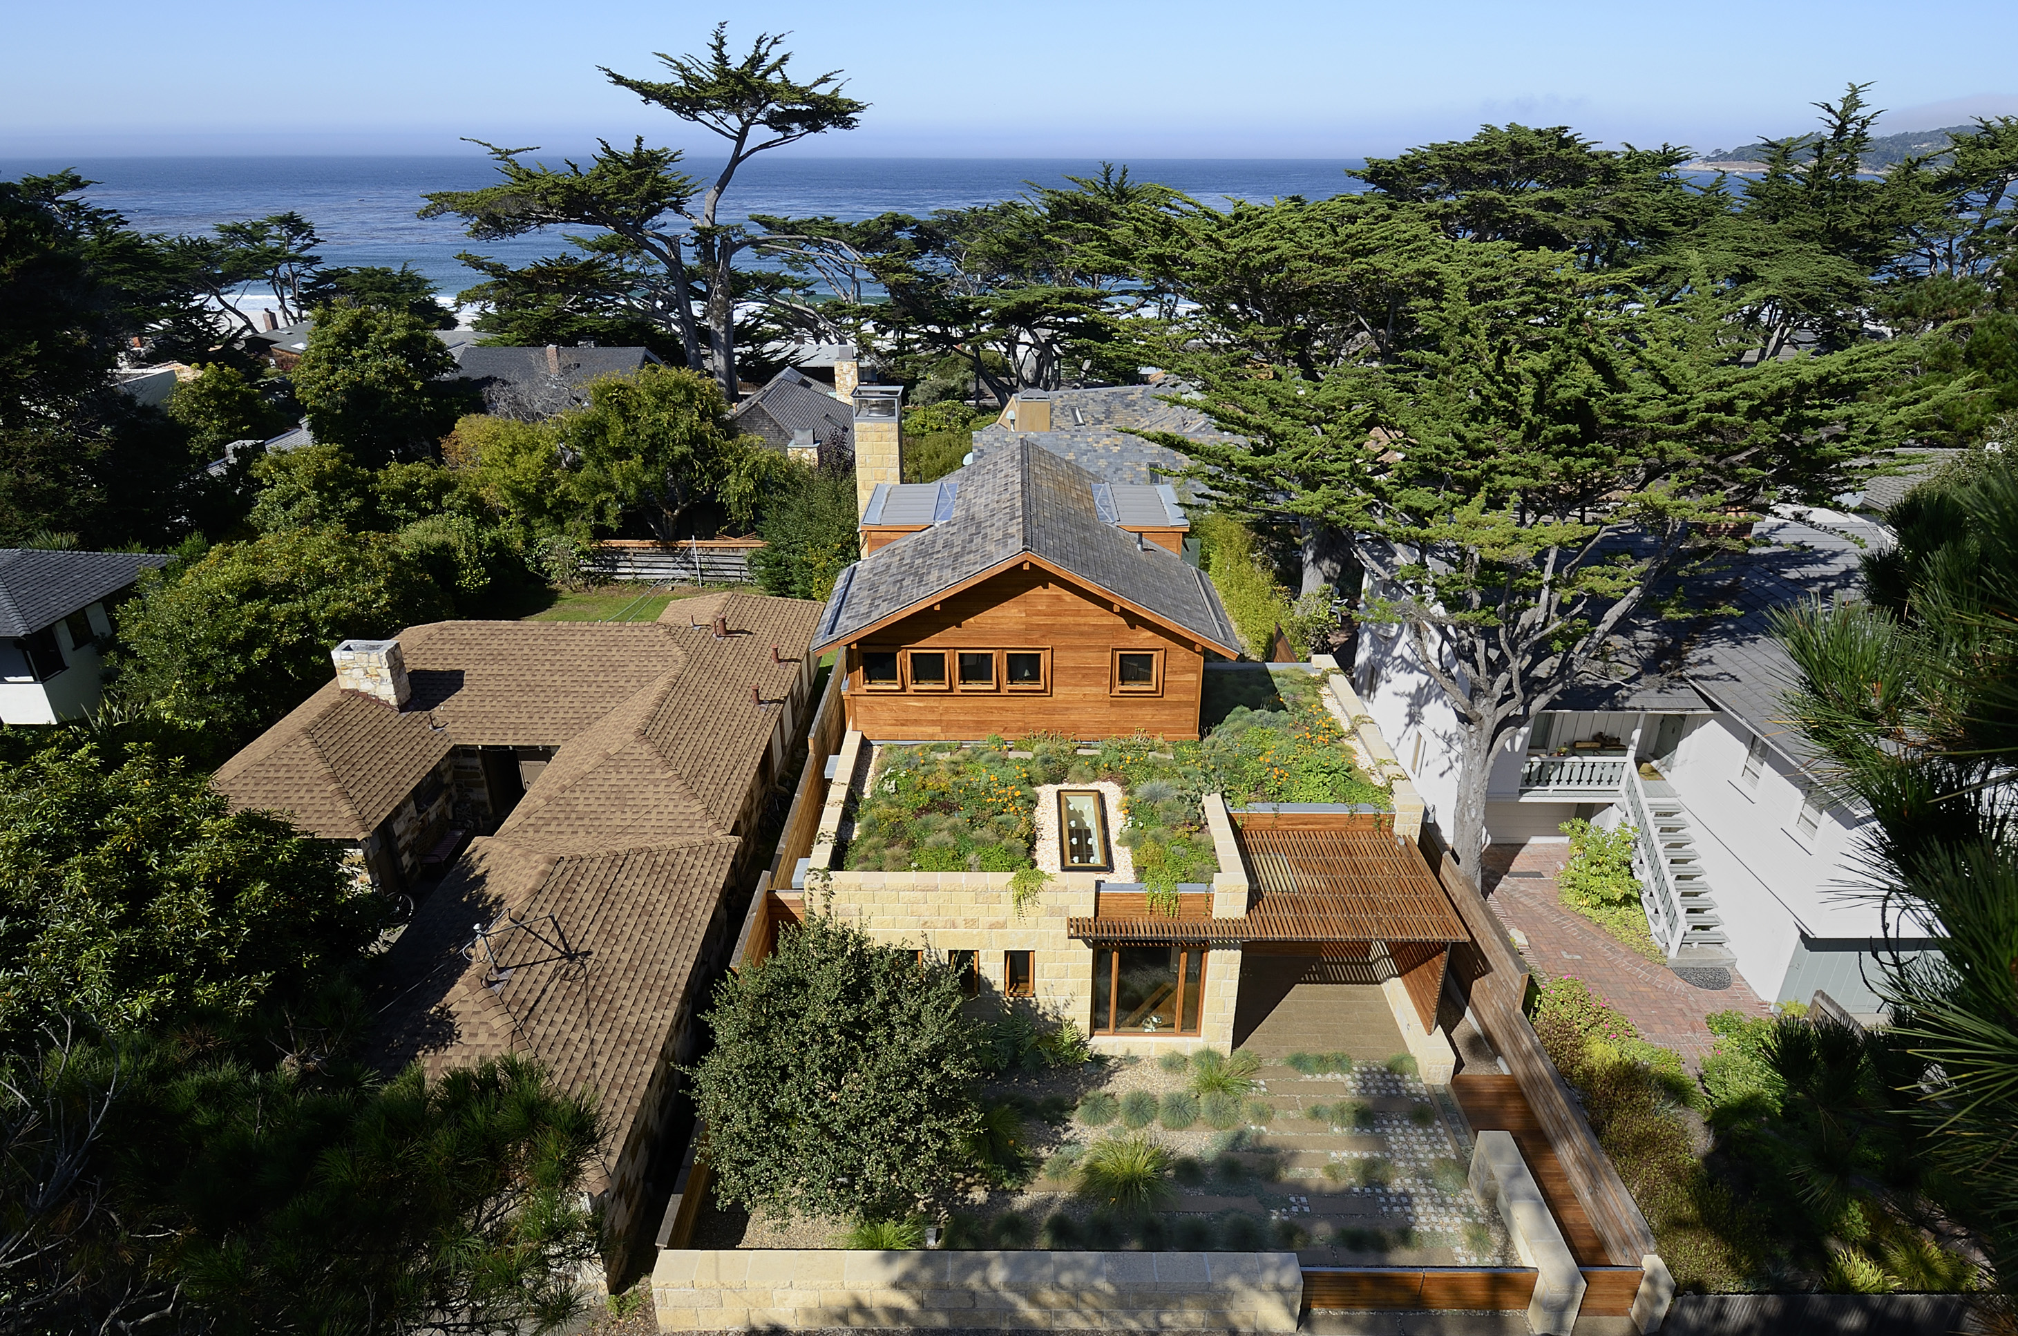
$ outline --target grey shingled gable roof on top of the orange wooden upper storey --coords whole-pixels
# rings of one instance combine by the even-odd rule
[[[833,587],[813,652],[1025,553],[1239,654],[1239,638],[1205,575],[1102,523],[1094,476],[1029,442],[961,470],[950,519],[850,567]]]

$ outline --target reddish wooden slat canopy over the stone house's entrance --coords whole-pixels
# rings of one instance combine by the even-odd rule
[[[1072,918],[1082,940],[1465,942],[1471,934],[1407,838],[1380,829],[1235,825],[1259,886],[1243,918]]]

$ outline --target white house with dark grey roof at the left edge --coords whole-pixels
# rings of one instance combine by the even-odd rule
[[[153,553],[0,549],[0,722],[52,725],[99,702],[111,605]]]

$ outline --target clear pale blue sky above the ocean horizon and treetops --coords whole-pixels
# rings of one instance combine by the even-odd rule
[[[1895,129],[2018,113],[2000,4],[0,0],[0,153],[440,153],[708,137],[595,73],[789,28],[874,103],[837,155],[1356,157],[1481,121],[1729,147],[1851,79]]]

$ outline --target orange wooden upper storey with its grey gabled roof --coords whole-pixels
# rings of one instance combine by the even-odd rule
[[[1174,496],[1116,503],[1130,488],[1029,442],[924,484],[928,507],[890,490],[870,500],[870,551],[813,636],[815,654],[839,656],[850,729],[1199,737],[1207,656],[1241,650],[1213,583],[1176,551]]]

